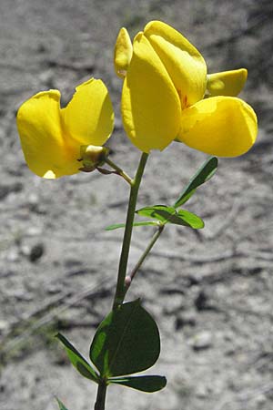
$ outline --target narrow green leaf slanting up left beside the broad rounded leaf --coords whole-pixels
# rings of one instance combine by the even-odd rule
[[[57,333],[56,338],[65,345],[68,359],[76,367],[76,370],[87,379],[97,383],[98,377],[95,370],[86,362],[86,359],[76,350],[73,344],[61,333]]]

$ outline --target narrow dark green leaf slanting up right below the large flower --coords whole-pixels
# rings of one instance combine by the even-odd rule
[[[217,157],[211,157],[197,170],[197,173],[190,180],[185,190],[182,191],[180,197],[176,201],[174,207],[178,208],[195,193],[197,188],[211,179],[217,171]]]

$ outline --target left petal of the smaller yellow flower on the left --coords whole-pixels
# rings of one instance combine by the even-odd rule
[[[58,178],[78,172],[79,148],[63,135],[60,93],[36,94],[19,108],[17,128],[25,161],[39,177]]]

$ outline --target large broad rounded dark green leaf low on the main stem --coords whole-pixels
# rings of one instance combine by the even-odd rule
[[[90,346],[90,359],[103,377],[142,372],[157,362],[159,353],[157,323],[139,300],[109,313]]]

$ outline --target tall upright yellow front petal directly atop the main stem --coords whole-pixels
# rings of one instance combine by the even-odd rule
[[[177,137],[181,107],[166,68],[143,33],[134,40],[134,53],[122,90],[124,127],[143,152],[165,149]]]

